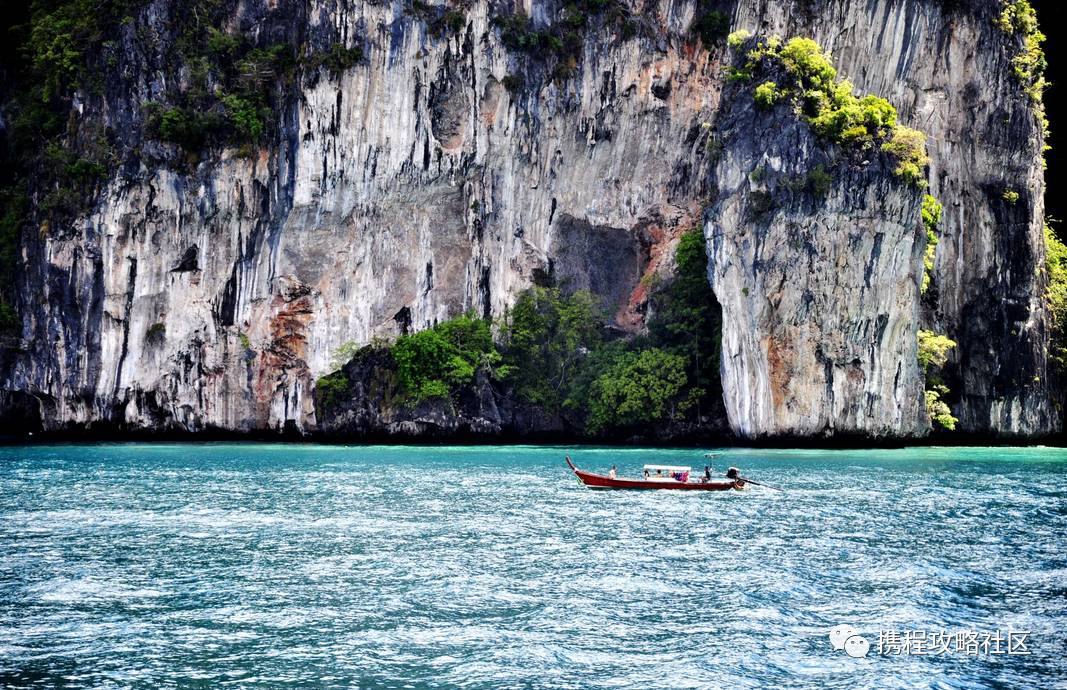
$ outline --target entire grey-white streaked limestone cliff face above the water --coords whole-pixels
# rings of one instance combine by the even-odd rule
[[[922,309],[919,194],[876,164],[837,171],[825,198],[784,192],[831,151],[723,98],[726,49],[692,37],[691,2],[633,4],[628,37],[594,22],[558,80],[504,45],[503,4],[474,2],[443,34],[402,3],[235,4],[228,30],[365,58],[302,74],[272,145],[190,166],[147,137],[142,107],[164,87],[170,1],[121,29],[112,85],[71,114],[124,133],[120,170],[76,222],[23,234],[21,338],[0,357],[0,403],[19,418],[29,399],[46,429],[315,431],[314,383],[344,343],[498,316],[539,272],[639,328],[642,275],[703,222],[735,432],[924,434],[923,320],[960,343],[962,429],[1055,427],[1042,142],[996,3],[723,6],[735,29],[819,41],[928,134],[945,221]],[[541,25],[560,9],[525,6]],[[774,203],[757,212],[759,193]]]

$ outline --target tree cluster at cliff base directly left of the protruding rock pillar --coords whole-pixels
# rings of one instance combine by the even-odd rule
[[[721,315],[701,229],[680,238],[674,258],[673,279],[650,300],[648,335],[631,340],[604,339],[604,316],[589,293],[525,292],[503,328],[520,398],[550,411],[588,411],[586,430],[594,435],[714,404]]]

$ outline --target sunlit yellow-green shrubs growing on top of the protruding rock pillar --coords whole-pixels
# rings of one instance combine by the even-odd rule
[[[757,74],[770,71],[789,78],[785,83],[766,80],[755,86],[753,98],[761,108],[790,99],[819,137],[857,150],[880,144],[892,157],[897,177],[917,187],[926,184],[929,159],[923,133],[898,125],[896,109],[885,98],[857,97],[851,82],[839,79],[817,43],[794,37],[783,45],[777,36],[757,41],[747,32],[731,34],[728,43],[737,51],[748,47],[744,63],[732,67],[728,79],[748,82]]]

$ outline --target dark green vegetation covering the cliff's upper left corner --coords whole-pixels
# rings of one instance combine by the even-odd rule
[[[175,144],[177,160],[190,163],[206,147],[249,153],[277,131],[286,87],[301,70],[337,75],[363,58],[362,42],[349,36],[350,47],[301,46],[298,60],[296,42],[272,26],[291,7],[268,3],[254,31],[233,28],[241,26],[233,21],[237,9],[236,0],[30,0],[5,7],[0,331],[17,325],[11,289],[20,234],[47,234],[83,213],[120,165],[150,159],[144,140]],[[152,84],[142,86],[155,100],[130,102],[142,89],[123,84],[148,67]],[[141,122],[143,130],[115,131],[106,116]]]

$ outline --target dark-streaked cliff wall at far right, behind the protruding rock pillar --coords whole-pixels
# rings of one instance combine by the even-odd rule
[[[740,2],[736,27],[807,35],[860,91],[926,133],[929,192],[944,204],[930,325],[952,353],[960,430],[1040,435],[1057,422],[1048,388],[1044,138],[1013,74],[1018,38],[999,2]],[[1005,191],[1019,194],[1016,203]],[[902,219],[903,220],[903,219]]]

